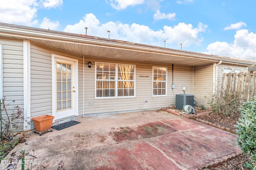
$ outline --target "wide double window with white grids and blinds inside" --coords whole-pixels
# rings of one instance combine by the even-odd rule
[[[96,63],[96,98],[135,96],[135,65]]]

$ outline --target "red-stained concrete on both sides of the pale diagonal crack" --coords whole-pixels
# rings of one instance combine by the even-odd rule
[[[190,169],[218,163],[240,154],[233,134],[192,121],[191,119],[163,120],[176,131],[165,135],[126,143],[129,149],[116,148],[106,153],[110,167],[96,169]],[[167,163],[168,162],[168,163]],[[213,164],[212,163],[212,164]]]

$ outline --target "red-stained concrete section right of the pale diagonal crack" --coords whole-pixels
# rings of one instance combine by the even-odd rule
[[[166,155],[182,167],[196,169],[199,165],[224,160],[228,155],[240,153],[233,137],[228,132],[200,125],[195,129],[147,140],[158,149],[167,151]]]

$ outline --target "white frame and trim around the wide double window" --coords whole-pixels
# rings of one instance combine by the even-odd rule
[[[96,79],[97,78],[97,63],[106,63],[106,64],[115,64],[115,67],[116,67],[116,72],[115,72],[115,75],[116,75],[116,79],[115,79],[115,96],[113,97],[97,97],[97,80],[100,80],[100,79]],[[94,81],[95,81],[95,87],[94,87],[94,92],[95,92],[95,99],[116,99],[116,98],[136,98],[136,65],[135,64],[128,64],[128,65],[133,65],[134,66],[134,96],[118,96],[118,80],[120,80],[120,78],[118,77],[118,64],[121,64],[121,63],[107,63],[107,62],[95,62],[95,75],[94,75]],[[124,63],[123,63],[124,64]],[[124,65],[127,65],[127,64],[124,64]]]

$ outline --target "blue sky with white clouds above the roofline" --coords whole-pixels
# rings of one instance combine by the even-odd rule
[[[1,0],[0,22],[256,58],[255,0]]]

